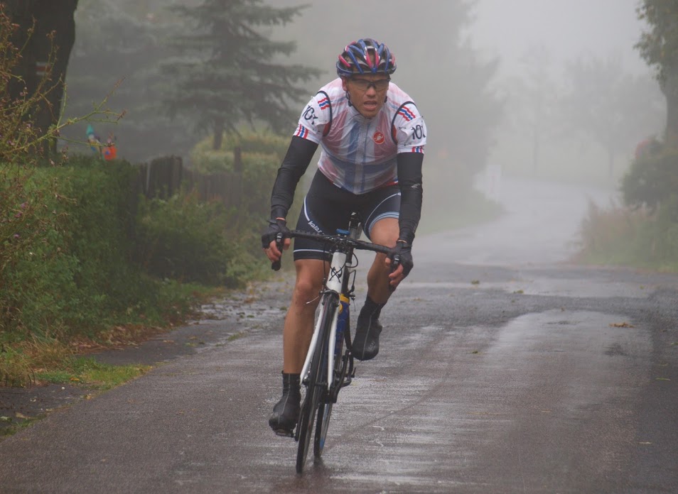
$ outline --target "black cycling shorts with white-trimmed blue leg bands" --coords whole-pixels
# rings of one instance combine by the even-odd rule
[[[365,194],[353,194],[334,185],[318,170],[311,187],[303,199],[296,229],[334,235],[338,229],[347,230],[351,214],[356,212],[362,219],[362,229],[370,238],[372,226],[384,218],[398,218],[400,212],[400,189],[387,185]],[[323,242],[294,239],[294,260],[330,260]]]

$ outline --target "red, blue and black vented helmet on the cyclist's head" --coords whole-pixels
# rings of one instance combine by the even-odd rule
[[[395,70],[395,57],[389,47],[372,38],[362,38],[350,43],[337,60],[337,74],[340,77],[356,74],[391,75]]]

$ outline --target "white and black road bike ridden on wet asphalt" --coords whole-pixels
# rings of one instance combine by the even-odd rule
[[[330,268],[323,280],[323,288],[320,292],[321,301],[318,304],[318,316],[311,344],[308,346],[306,360],[301,370],[301,383],[306,388],[306,393],[296,430],[294,434],[290,434],[295,441],[298,441],[297,473],[302,473],[306,463],[313,423],[316,424],[313,455],[319,459],[325,447],[332,405],[337,402],[339,390],[350,385],[355,378],[349,317],[350,301],[355,298],[353,292],[357,268],[357,261],[353,264],[353,251],[365,250],[387,255],[392,251],[387,246],[360,241],[360,234],[362,234],[360,218],[353,213],[348,230],[338,230],[335,235],[292,230],[289,234],[284,236],[279,234],[276,238],[279,246],[282,245],[284,237],[321,240],[328,244],[328,252],[332,253]],[[398,265],[399,258],[394,256],[392,269],[397,268]],[[280,261],[273,263],[271,268],[280,269]],[[343,324],[338,324],[338,322],[343,322]]]

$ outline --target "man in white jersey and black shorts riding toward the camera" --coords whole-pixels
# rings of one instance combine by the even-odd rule
[[[303,109],[271,194],[271,221],[262,246],[271,261],[281,251],[274,239],[288,231],[286,215],[294,191],[321,145],[318,170],[296,229],[335,234],[352,212],[362,216],[370,241],[392,246],[377,254],[367,273],[367,298],[357,318],[353,356],[379,351],[380,312],[414,263],[414,232],[421,216],[421,165],[426,125],[408,94],[390,82],[396,70],[387,45],[371,38],[347,45],[336,62],[338,78],[326,84]],[[286,238],[284,249],[289,248]],[[391,257],[401,264],[391,272]],[[313,334],[318,292],[330,260],[323,244],[296,238],[296,282],[283,330],[283,395],[269,425],[279,434],[294,430],[300,408],[299,373]]]

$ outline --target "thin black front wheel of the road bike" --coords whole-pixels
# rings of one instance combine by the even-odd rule
[[[318,413],[321,396],[324,395],[323,390],[320,388],[323,385],[323,373],[327,374],[327,364],[325,363],[323,370],[323,360],[325,360],[325,353],[327,352],[330,325],[336,310],[336,308],[333,309],[333,307],[336,307],[333,302],[332,294],[324,296],[321,314],[323,318],[320,326],[321,332],[318,334],[318,340],[316,341],[316,351],[313,352],[313,358],[311,358],[311,366],[308,370],[308,383],[306,384],[306,397],[304,397],[301,414],[299,415],[299,445],[296,452],[296,473],[303,472],[303,466],[306,464],[308,445],[311,444],[311,434],[313,434],[313,424],[316,422],[316,414]],[[325,360],[325,362],[327,361]]]

